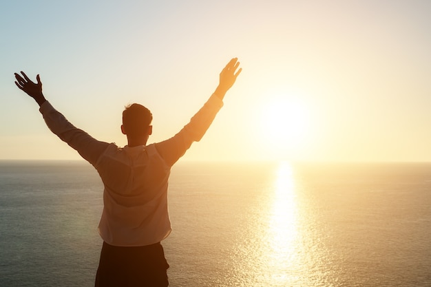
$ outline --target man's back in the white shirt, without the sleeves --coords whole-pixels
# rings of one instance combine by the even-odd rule
[[[98,229],[107,244],[144,246],[169,235],[167,185],[171,167],[155,145],[123,149],[109,145],[95,167],[105,185]]]

